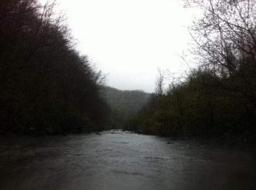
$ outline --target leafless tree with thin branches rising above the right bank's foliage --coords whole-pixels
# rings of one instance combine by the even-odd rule
[[[229,80],[221,88],[256,100],[256,1],[186,0],[202,17],[190,27],[200,67]]]

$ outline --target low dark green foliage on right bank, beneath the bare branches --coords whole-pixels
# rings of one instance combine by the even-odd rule
[[[253,138],[255,107],[237,94],[213,88],[225,80],[196,70],[164,95],[152,95],[127,129],[168,136]]]

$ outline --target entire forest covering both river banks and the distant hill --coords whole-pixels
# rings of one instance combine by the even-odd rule
[[[123,127],[163,136],[255,140],[253,1],[186,1],[186,8],[203,11],[189,28],[196,66],[180,78],[159,70],[152,95],[106,86],[105,75],[76,50],[54,7],[37,0],[0,2],[0,133]]]

